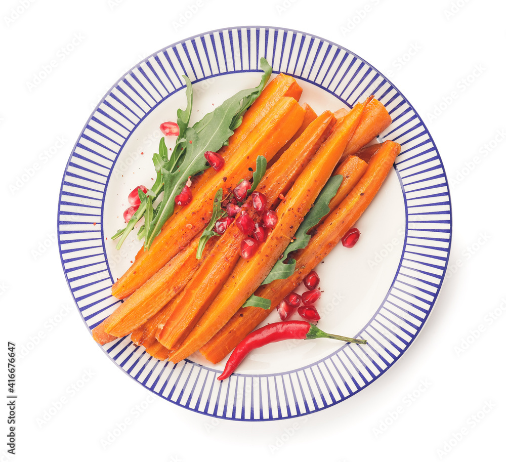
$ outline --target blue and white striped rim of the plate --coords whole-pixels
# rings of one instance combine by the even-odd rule
[[[292,74],[348,106],[374,94],[392,116],[382,134],[402,145],[396,172],[403,190],[406,238],[398,272],[375,315],[358,333],[368,348],[345,345],[298,370],[268,375],[220,373],[200,364],[158,361],[129,338],[106,345],[126,373],[165,399],[204,414],[246,420],[303,415],[338,403],[384,373],[426,322],[441,288],[451,240],[448,184],[433,140],[416,111],[378,71],[348,50],[303,32],[243,27],[216,30],[151,55],[125,74],[88,120],[61,187],[58,229],[63,268],[76,304],[93,328],[120,302],[104,251],[103,201],[125,141],[154,107],[192,81],[258,72]]]

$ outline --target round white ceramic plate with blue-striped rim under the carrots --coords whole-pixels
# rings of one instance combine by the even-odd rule
[[[249,355],[223,383],[216,377],[224,361],[215,366],[199,354],[177,365],[158,361],[129,337],[103,347],[134,380],[168,401],[241,420],[326,408],[388,370],[432,311],[451,241],[450,198],[439,153],[416,111],[384,75],[339,45],[303,32],[215,30],[160,50],[122,76],[74,146],[61,187],[59,246],[70,290],[90,331],[121,303],[110,288],[130,266],[139,243],[132,236],[118,251],[110,236],[123,227],[128,193],[152,183],[159,124],[175,120],[176,110],[186,107],[180,76],[193,82],[195,121],[213,104],[258,85],[262,56],[274,74],[298,78],[301,103],[317,113],[352,107],[374,94],[393,119],[381,137],[397,141],[402,151],[357,223],[362,232],[357,245],[339,245],[317,268],[325,290],[318,301],[319,327],[365,338],[367,346],[280,342]]]

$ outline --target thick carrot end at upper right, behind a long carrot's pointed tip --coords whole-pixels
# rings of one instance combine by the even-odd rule
[[[392,123],[392,118],[385,106],[373,99],[366,107],[364,116],[357,130],[346,146],[343,158],[355,154],[360,148],[371,142]]]

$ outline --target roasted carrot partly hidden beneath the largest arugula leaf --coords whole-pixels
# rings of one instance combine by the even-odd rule
[[[267,113],[276,104],[279,98],[292,97],[299,101],[302,95],[302,88],[297,83],[297,80],[290,75],[278,74],[273,78],[268,85],[264,88],[260,96],[248,108],[242,117],[242,122],[239,127],[234,131],[234,134],[228,139],[228,145],[223,146],[218,152],[222,155],[225,162],[228,161],[234,154],[245,138],[251,133],[256,125],[267,115]],[[213,169],[207,169],[201,175],[192,178],[192,194],[195,195],[200,187],[205,184],[211,177],[219,176],[221,173]],[[176,205],[175,213],[183,208],[182,205]],[[171,221],[169,218],[163,227]],[[144,253],[144,247],[141,247],[136,255],[136,259]],[[114,294],[113,294],[114,295]]]

